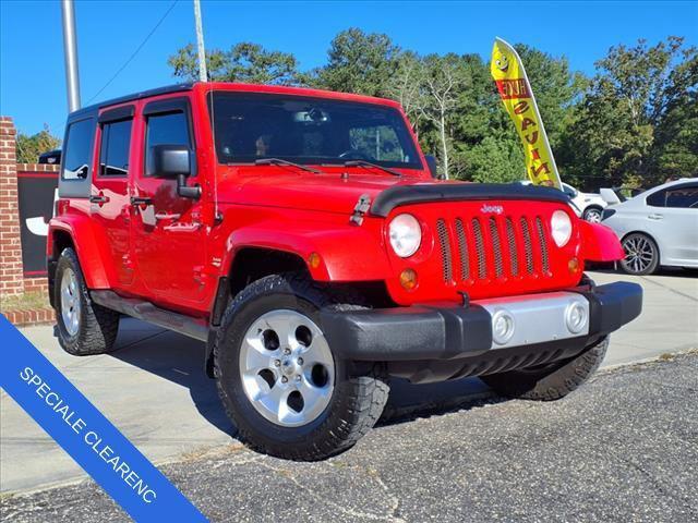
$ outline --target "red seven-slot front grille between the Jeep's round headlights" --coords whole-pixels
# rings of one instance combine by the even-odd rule
[[[528,276],[549,275],[549,240],[541,217],[492,216],[467,222],[462,218],[440,218],[436,232],[445,282],[454,282],[455,278],[466,282],[518,277],[521,271]],[[458,275],[454,275],[454,267],[459,269]]]

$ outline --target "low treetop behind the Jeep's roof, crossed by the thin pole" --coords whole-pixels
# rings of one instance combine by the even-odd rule
[[[174,76],[188,81],[198,78],[198,58],[191,44],[168,59]],[[293,85],[300,82],[298,61],[293,54],[268,51],[258,44],[243,41],[228,51],[212,49],[206,52],[208,80],[214,82],[242,82],[251,84]]]

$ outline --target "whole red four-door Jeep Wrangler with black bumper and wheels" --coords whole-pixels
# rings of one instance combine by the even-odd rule
[[[63,144],[61,345],[111,351],[122,314],[205,341],[262,452],[346,450],[392,376],[562,398],[641,309],[639,285],[583,275],[624,256],[613,232],[555,188],[435,180],[394,101],[178,85],[71,113]]]

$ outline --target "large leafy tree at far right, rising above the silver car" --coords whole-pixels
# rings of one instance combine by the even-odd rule
[[[565,161],[597,185],[695,175],[697,51],[683,38],[617,46],[597,62],[569,126]]]

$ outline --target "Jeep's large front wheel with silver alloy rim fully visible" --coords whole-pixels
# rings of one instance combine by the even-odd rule
[[[387,401],[382,368],[333,353],[322,307],[363,308],[302,275],[273,275],[228,306],[214,346],[218,394],[240,439],[278,458],[316,461],[352,447]]]

